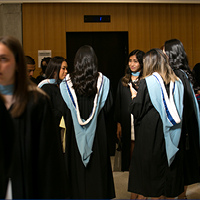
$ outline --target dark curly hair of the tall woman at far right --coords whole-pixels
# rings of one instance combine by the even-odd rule
[[[183,44],[178,39],[171,39],[165,42],[164,51],[169,58],[169,64],[173,70],[181,69],[183,70],[192,85],[195,83],[195,78],[193,76],[192,71],[188,65],[188,58],[183,47]]]

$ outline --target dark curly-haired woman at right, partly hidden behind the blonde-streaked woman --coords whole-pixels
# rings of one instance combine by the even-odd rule
[[[184,85],[184,112],[183,128],[184,136],[184,184],[185,186],[200,181],[200,148],[199,148],[199,107],[194,95],[195,78],[189,68],[188,58],[182,42],[178,39],[168,40],[164,44],[169,64],[174,73],[181,79]],[[181,169],[180,169],[181,170]],[[186,188],[180,199],[186,197]]]

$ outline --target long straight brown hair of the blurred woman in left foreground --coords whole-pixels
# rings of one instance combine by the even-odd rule
[[[11,36],[4,36],[0,38],[0,43],[9,48],[15,57],[16,71],[14,82],[14,94],[13,98],[15,102],[13,104],[11,115],[13,117],[20,116],[28,102],[28,90],[32,85],[27,76],[27,67],[25,61],[25,55],[20,42]]]

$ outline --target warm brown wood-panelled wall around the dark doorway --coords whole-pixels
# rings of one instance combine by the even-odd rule
[[[23,47],[37,63],[38,50],[66,56],[66,31],[128,31],[129,52],[181,40],[192,68],[200,62],[199,10],[198,4],[24,3]],[[110,15],[111,22],[84,23],[84,15]]]

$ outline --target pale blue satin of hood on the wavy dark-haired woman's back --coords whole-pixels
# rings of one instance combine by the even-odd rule
[[[78,106],[75,103],[76,101],[73,100],[74,99],[73,94],[69,92],[70,90],[73,91],[72,85],[68,84],[68,80],[70,80],[69,75],[67,75],[66,78],[63,79],[63,81],[60,84],[61,95],[71,111],[76,141],[82,162],[85,167],[89,163],[90,156],[92,154],[92,146],[96,132],[98,114],[105,104],[110,88],[109,79],[105,76],[103,76],[102,78],[103,78],[102,84],[99,88],[99,94],[94,116],[92,117],[90,122],[87,123],[86,125],[80,125],[80,123],[78,122],[78,117],[77,117]],[[85,120],[82,119],[82,121],[84,122]]]

